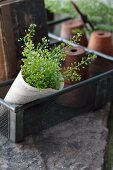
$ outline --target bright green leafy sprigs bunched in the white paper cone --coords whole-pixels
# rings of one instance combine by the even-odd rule
[[[23,46],[23,65],[21,71],[24,80],[38,89],[53,88],[59,89],[63,79],[78,81],[80,75],[77,70],[88,65],[95,55],[84,57],[80,63],[72,63],[62,72],[61,62],[65,60],[65,44],[61,43],[50,49],[46,38],[42,38],[42,43],[35,47],[32,38],[35,34],[35,24],[31,24],[25,37],[20,39],[24,42]],[[79,35],[78,35],[79,37]],[[73,38],[73,40],[77,38]]]

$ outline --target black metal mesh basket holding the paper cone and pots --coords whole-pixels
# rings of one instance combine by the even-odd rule
[[[49,37],[54,38],[57,43],[61,41],[70,43],[52,34],[49,34]],[[78,46],[73,43],[71,45]],[[88,79],[25,105],[10,104],[0,98],[0,133],[14,142],[20,142],[28,135],[39,134],[57,123],[98,109],[111,101],[113,99],[113,58],[84,49],[88,53],[95,53],[101,60],[101,64],[99,61],[95,66],[90,66],[90,68],[94,66],[95,72],[92,72]],[[107,67],[104,68],[102,65]],[[3,82],[0,88],[10,86],[12,82],[13,80]],[[69,96],[72,93],[75,93],[75,97],[77,96],[79,100],[75,100],[74,105],[71,106],[73,101]]]

